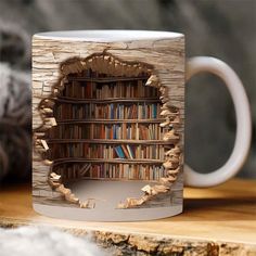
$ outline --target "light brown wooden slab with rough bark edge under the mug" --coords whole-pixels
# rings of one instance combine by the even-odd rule
[[[48,218],[33,210],[29,184],[2,187],[0,226],[22,225],[53,226],[77,235],[92,232],[99,243],[120,251],[133,246],[148,253],[256,255],[256,181],[234,179],[216,188],[185,189],[183,214],[140,222]]]

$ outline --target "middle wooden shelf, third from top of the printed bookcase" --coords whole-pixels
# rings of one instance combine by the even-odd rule
[[[102,118],[98,118],[98,119],[56,119],[57,125],[62,125],[62,124],[118,124],[118,123],[132,123],[132,124],[161,124],[165,121],[165,119],[102,119]]]

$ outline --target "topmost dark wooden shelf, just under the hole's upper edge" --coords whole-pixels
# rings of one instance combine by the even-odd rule
[[[137,76],[137,77],[87,77],[87,76],[68,76],[69,81],[94,81],[94,82],[114,82],[114,81],[136,81],[136,80],[146,80],[149,76]]]

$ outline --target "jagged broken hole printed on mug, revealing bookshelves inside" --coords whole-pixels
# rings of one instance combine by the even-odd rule
[[[180,167],[179,136],[174,127],[180,121],[179,110],[168,103],[167,89],[161,87],[154,68],[103,53],[85,60],[71,59],[61,65],[61,74],[52,98],[42,100],[39,106],[41,114],[52,115],[41,116],[44,126],[51,123],[41,142],[46,149],[41,156],[50,163],[51,187],[80,207],[84,203],[65,187],[82,180],[87,181],[80,185],[87,188],[82,193],[86,196],[90,196],[89,187],[95,180],[125,181],[126,185],[133,181],[130,183],[138,188],[128,185],[119,194],[120,201],[133,196],[132,201],[127,197],[123,208],[141,205],[169,191]],[[56,181],[59,175],[61,180]],[[98,183],[93,193],[102,191],[103,184],[107,189],[106,182]],[[77,191],[78,187],[72,187],[72,191],[85,190]],[[113,196],[113,189],[107,190]],[[116,199],[112,203],[115,207],[118,204]]]

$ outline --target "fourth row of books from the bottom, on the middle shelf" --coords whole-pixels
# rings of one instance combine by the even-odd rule
[[[111,104],[69,104],[62,103],[54,108],[57,119],[155,119],[159,117],[161,103],[123,102]]]

